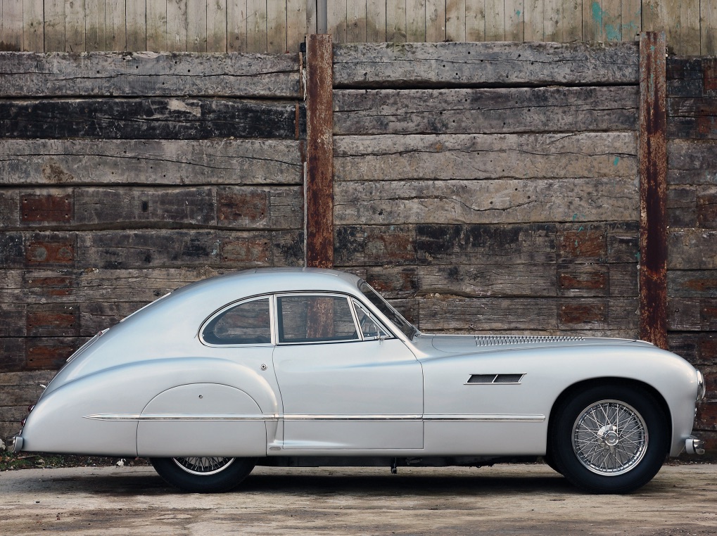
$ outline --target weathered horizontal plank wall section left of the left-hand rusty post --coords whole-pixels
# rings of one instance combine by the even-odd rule
[[[306,127],[298,52],[0,52],[0,71],[5,436],[33,371],[98,330],[197,279],[303,265]]]

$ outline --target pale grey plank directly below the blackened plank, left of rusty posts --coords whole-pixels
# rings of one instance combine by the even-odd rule
[[[119,186],[138,177],[168,186],[302,184],[302,155],[295,140],[0,140],[3,186]],[[12,226],[17,190],[1,199],[0,225]]]

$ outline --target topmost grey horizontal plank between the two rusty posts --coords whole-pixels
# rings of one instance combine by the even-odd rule
[[[634,43],[337,44],[334,85],[340,87],[470,87],[635,84]]]

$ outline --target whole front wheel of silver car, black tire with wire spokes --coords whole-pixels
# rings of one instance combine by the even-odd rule
[[[670,420],[655,398],[637,386],[579,391],[554,419],[551,461],[588,492],[632,492],[655,477],[668,454]]]

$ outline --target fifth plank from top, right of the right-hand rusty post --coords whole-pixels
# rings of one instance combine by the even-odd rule
[[[717,269],[717,231],[671,229],[669,270]]]

